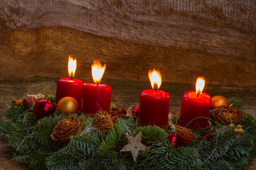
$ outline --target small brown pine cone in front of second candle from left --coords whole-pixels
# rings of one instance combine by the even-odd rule
[[[110,118],[109,113],[107,113],[107,111],[98,111],[95,114],[95,120],[93,122],[94,127],[97,130],[110,130],[110,128],[112,128],[113,126],[113,121]]]

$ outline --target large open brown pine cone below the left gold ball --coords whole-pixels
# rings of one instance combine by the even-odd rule
[[[50,138],[61,142],[69,142],[70,137],[78,135],[82,131],[82,123],[83,118],[79,116],[59,120],[55,128],[53,128]]]

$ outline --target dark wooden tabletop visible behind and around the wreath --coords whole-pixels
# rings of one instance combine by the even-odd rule
[[[9,107],[10,98],[22,99],[27,94],[47,93],[55,95],[57,79],[38,78],[33,81],[23,80],[0,80],[0,120],[4,120],[4,113]],[[117,104],[117,108],[127,108],[127,110],[139,104],[139,94],[144,89],[151,89],[149,81],[134,81],[122,79],[107,79],[102,81],[112,86],[112,102]],[[193,82],[194,83],[194,82]],[[178,115],[181,107],[183,93],[195,89],[195,84],[181,84],[175,82],[163,82],[161,90],[170,94],[170,111]],[[226,98],[238,97],[245,103],[245,112],[256,117],[256,86],[234,86],[207,84],[203,90],[210,96],[225,96]],[[17,164],[11,161],[15,150],[10,147],[5,140],[0,140],[0,170],[1,169],[28,169],[27,165]],[[247,169],[256,169],[256,159]]]

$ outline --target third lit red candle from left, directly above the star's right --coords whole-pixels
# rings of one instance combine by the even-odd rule
[[[153,89],[142,91],[139,100],[140,125],[168,125],[170,96],[166,91],[158,90],[161,86],[161,74],[158,70],[149,70],[149,79]]]

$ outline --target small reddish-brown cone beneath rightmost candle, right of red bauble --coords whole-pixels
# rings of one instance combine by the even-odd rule
[[[188,145],[191,144],[191,142],[193,142],[194,140],[194,134],[192,132],[192,130],[189,130],[189,129],[183,129],[181,130],[181,132],[178,132],[178,135],[177,135],[177,146],[178,147],[186,147]]]

